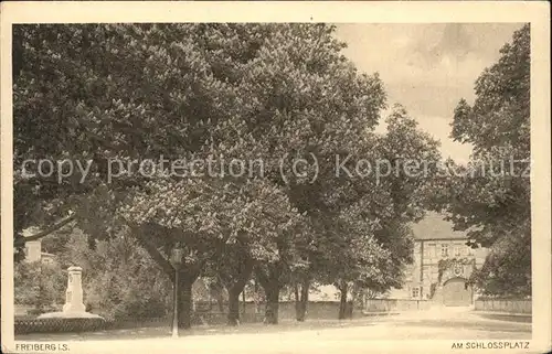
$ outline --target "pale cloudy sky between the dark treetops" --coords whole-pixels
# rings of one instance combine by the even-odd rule
[[[367,73],[378,72],[388,105],[401,104],[420,128],[440,140],[443,158],[465,163],[471,147],[449,138],[460,98],[473,103],[474,84],[500,57],[520,23],[338,24],[343,54]],[[388,111],[384,115],[389,114]],[[379,130],[384,131],[384,126]]]

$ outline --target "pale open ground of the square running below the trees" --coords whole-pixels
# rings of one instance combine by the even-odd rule
[[[34,333],[18,335],[18,341],[120,341],[169,339],[170,326],[140,326],[134,329],[105,330],[87,333]],[[367,329],[367,330],[364,330]],[[402,313],[394,317],[364,317],[353,320],[317,320],[306,322],[282,320],[278,325],[245,323],[237,328],[200,325],[180,331],[180,336],[209,336],[232,334],[293,334],[294,337],[315,339],[325,332],[325,339],[368,340],[368,339],[530,339],[530,319],[512,315],[495,315],[474,312],[447,313],[424,311]],[[293,333],[291,333],[293,332]],[[298,336],[295,336],[295,333]],[[289,336],[286,336],[289,337]],[[208,340],[209,341],[209,340]]]

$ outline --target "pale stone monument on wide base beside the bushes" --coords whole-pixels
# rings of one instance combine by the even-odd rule
[[[63,311],[49,312],[39,315],[39,319],[47,318],[102,318],[97,314],[86,312],[86,307],[83,302],[83,269],[81,267],[70,267],[67,269],[67,290],[65,291],[65,304]]]

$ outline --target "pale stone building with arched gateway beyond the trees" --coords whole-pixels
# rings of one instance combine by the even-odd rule
[[[403,289],[393,289],[389,298],[470,305],[475,289],[467,286],[467,279],[481,267],[488,250],[467,246],[466,234],[455,232],[437,213],[428,213],[414,224],[413,233],[414,262],[407,268]]]

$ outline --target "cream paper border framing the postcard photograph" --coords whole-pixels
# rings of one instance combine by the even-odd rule
[[[12,262],[12,77],[11,24],[78,22],[330,22],[330,23],[445,23],[445,22],[531,22],[531,149],[533,340],[531,352],[551,348],[551,238],[550,238],[550,4],[544,1],[252,1],[252,2],[2,2],[1,8],[1,235],[2,235],[2,351],[13,353],[13,262]],[[230,341],[229,336],[229,341]],[[225,347],[172,347],[174,342],[147,341],[102,343],[72,342],[74,353],[118,353],[173,350],[205,353]],[[466,342],[466,341],[460,341]],[[323,342],[328,352],[339,343]],[[447,352],[453,341],[367,341],[354,343],[359,352]],[[256,336],[247,352],[263,353],[268,343]],[[350,343],[349,343],[350,344]],[[180,344],[181,345],[181,344]],[[315,348],[317,343],[305,343]],[[330,345],[330,346],[328,346]],[[350,346],[348,346],[350,348]],[[301,351],[289,348],[290,353]],[[319,347],[322,351],[322,347]],[[323,352],[323,351],[322,351]],[[470,351],[473,352],[473,351]],[[488,352],[488,351],[487,351]]]

